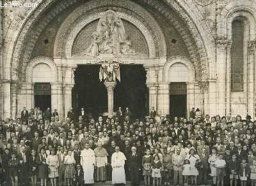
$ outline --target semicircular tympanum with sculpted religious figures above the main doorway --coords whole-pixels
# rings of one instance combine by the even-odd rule
[[[79,32],[72,55],[148,57],[148,47],[143,34],[134,25],[119,18],[115,11],[108,10]]]

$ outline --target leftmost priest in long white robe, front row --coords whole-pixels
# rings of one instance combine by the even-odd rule
[[[94,183],[94,166],[95,166],[95,154],[94,151],[89,148],[89,144],[86,143],[84,150],[81,151],[81,166],[84,171],[84,183]]]

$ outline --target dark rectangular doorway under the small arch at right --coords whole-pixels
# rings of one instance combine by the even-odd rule
[[[170,116],[186,117],[187,84],[184,82],[170,83]]]

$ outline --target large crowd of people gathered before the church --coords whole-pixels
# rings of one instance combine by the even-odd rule
[[[197,111],[200,111],[197,109]],[[248,115],[190,112],[143,120],[119,108],[93,118],[84,108],[22,110],[0,124],[1,185],[256,185],[256,122]],[[109,183],[109,182],[108,182]]]

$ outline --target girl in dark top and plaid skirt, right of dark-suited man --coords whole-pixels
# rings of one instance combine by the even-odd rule
[[[143,166],[143,172],[142,175],[144,176],[144,182],[145,186],[150,185],[150,175],[151,175],[151,164],[153,161],[152,155],[150,155],[150,150],[146,150],[146,155],[142,158],[142,166]]]

